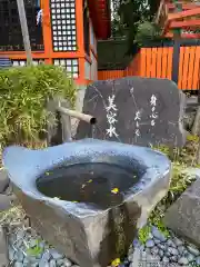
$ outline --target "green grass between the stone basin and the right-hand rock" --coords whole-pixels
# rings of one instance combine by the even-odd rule
[[[162,219],[164,217],[166,210],[181,196],[181,194],[196,180],[196,177],[189,174],[186,174],[186,169],[189,167],[199,167],[196,165],[196,155],[198,150],[199,138],[189,136],[187,145],[184,148],[177,149],[172,151],[166,147],[152,147],[154,150],[159,150],[172,162],[172,177],[170,182],[170,188],[167,196],[157,205],[154,210],[149,217],[148,224],[154,225],[158,229],[164,234],[169,235],[168,229],[166,228]],[[139,239],[141,243],[147,240],[149,227],[140,229]]]

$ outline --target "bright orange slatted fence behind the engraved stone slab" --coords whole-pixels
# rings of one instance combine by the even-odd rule
[[[141,48],[124,70],[103,70],[99,80],[128,76],[172,79],[182,90],[200,89],[200,43]]]

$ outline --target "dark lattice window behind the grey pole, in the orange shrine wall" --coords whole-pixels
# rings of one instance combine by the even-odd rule
[[[43,50],[41,23],[37,24],[40,10],[38,0],[24,0],[31,49]],[[0,0],[0,51],[23,51],[23,39],[17,0]]]

